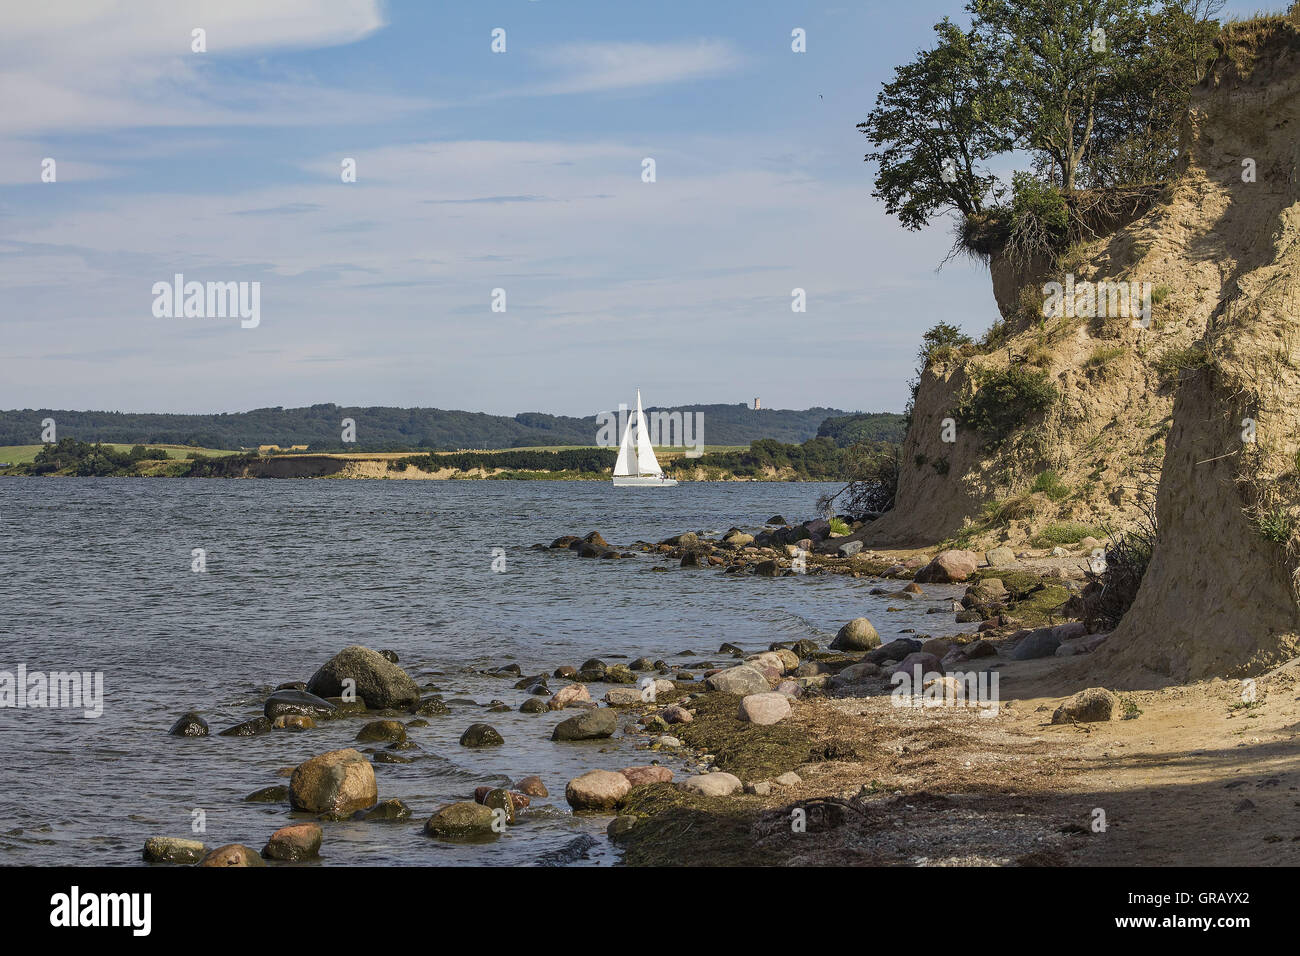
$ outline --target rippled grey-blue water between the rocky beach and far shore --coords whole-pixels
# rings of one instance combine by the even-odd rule
[[[681,531],[807,518],[823,485],[684,484],[615,490],[606,483],[229,481],[0,479],[0,670],[103,671],[104,714],[0,709],[0,864],[138,864],[144,839],[188,836],[202,809],[209,847],[260,848],[291,821],[287,804],[242,797],[287,783],[277,770],[350,747],[355,721],[257,737],[216,731],[261,713],[268,691],[306,680],[347,644],[393,649],[419,683],[454,704],[412,728],[410,765],[376,765],[380,797],[413,810],[402,823],[325,823],[325,864],[526,865],[582,835],[582,864],[610,864],[607,818],[573,817],[564,783],[594,767],[649,762],[621,735],[552,744],[563,714],[485,711],[526,698],[512,679],[618,654],[699,663],[731,641],[827,643],[867,615],[885,640],[915,627],[956,631],[932,601],[885,613],[870,579],[738,578],[710,570],[654,574],[663,562],[584,561],[528,550],[562,533],[599,531],[611,545]],[[191,549],[207,572],[190,570]],[[491,549],[507,554],[491,570]],[[927,588],[936,600],[949,591]],[[715,658],[718,659],[718,658]],[[552,688],[563,682],[552,680]],[[593,696],[607,688],[593,685]],[[166,736],[199,710],[213,736]],[[506,745],[458,744],[477,721]],[[356,744],[364,748],[365,744]],[[668,762],[668,761],[666,761]],[[672,765],[670,762],[670,765]],[[676,767],[675,767],[676,769]],[[484,783],[540,774],[551,799],[491,844],[425,838],[439,803]]]

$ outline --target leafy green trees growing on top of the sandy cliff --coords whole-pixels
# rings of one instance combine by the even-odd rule
[[[875,195],[907,229],[979,219],[1008,191],[985,164],[1024,151],[1066,195],[1164,179],[1222,0],[970,0],[970,30],[896,68],[858,129]]]

